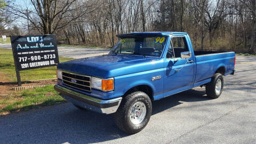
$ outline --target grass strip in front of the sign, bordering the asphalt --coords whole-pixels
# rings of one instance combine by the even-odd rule
[[[56,103],[66,102],[54,89],[53,85],[36,87],[33,90],[23,90],[0,97],[0,115],[12,111],[27,111]]]

